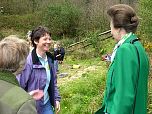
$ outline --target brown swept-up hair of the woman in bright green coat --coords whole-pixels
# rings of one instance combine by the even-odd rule
[[[108,9],[107,14],[111,17],[114,28],[124,28],[126,32],[136,32],[139,19],[129,5],[114,5]]]

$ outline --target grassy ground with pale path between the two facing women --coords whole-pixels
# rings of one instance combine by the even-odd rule
[[[62,97],[60,114],[94,114],[101,106],[107,63],[100,58],[71,60],[60,65],[58,86]],[[74,68],[75,67],[75,68]],[[76,68],[77,67],[77,68]],[[148,113],[152,114],[152,79],[149,80]]]

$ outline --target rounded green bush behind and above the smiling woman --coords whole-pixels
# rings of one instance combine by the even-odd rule
[[[53,34],[76,35],[81,11],[73,4],[50,4],[44,14],[44,23]]]

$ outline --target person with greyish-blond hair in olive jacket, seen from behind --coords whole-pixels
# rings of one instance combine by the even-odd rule
[[[16,79],[28,53],[27,42],[15,35],[0,41],[0,114],[37,114],[36,102]]]

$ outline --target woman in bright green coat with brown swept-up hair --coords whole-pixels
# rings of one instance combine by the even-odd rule
[[[108,10],[111,34],[116,40],[102,108],[96,114],[147,114],[149,60],[134,34],[138,17],[128,5]]]

